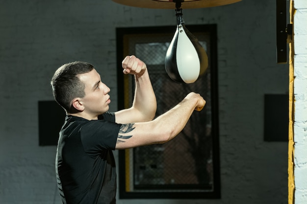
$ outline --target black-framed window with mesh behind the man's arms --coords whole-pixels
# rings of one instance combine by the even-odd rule
[[[216,25],[186,25],[208,55],[206,73],[192,84],[179,84],[167,75],[164,58],[176,26],[117,28],[118,108],[129,108],[134,78],[121,72],[127,55],[144,61],[157,99],[156,116],[178,104],[187,93],[206,100],[179,136],[159,145],[119,152],[120,198],[220,198],[217,101]]]

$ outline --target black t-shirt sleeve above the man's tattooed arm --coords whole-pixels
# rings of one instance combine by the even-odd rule
[[[105,149],[115,150],[120,127],[121,124],[105,120],[91,120],[83,125],[80,131],[85,152],[99,154]]]

